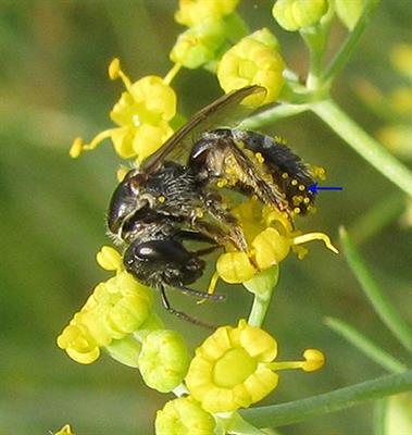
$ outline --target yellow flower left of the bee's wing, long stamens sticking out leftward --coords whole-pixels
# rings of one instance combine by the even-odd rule
[[[89,144],[76,138],[71,157],[95,149],[107,138],[112,139],[115,151],[124,159],[136,157],[141,162],[155,152],[173,134],[168,122],[176,114],[176,95],[168,84],[177,70],[174,67],[164,79],[151,75],[132,83],[121,70],[118,59],[114,59],[109,66],[110,78],[122,78],[126,87],[110,112],[118,127],[99,133]]]

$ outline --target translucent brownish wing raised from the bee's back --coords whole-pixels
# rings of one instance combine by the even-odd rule
[[[166,158],[186,164],[193,142],[203,132],[217,127],[236,126],[244,117],[255,110],[242,104],[242,101],[251,95],[262,94],[263,98],[265,92],[265,88],[261,86],[248,86],[224,95],[201,109],[143,162],[145,173],[155,171]]]

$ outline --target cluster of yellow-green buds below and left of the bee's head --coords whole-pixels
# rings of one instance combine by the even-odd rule
[[[97,261],[116,274],[98,284],[58,337],[58,346],[84,364],[96,361],[104,348],[123,364],[138,368],[149,387],[171,391],[189,365],[186,344],[178,333],[163,328],[152,311],[152,290],[123,270],[115,249],[103,247]]]

